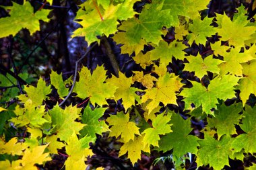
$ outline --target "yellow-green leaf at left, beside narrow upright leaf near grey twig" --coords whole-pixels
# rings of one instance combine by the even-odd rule
[[[32,101],[34,107],[42,105],[42,101],[46,99],[46,95],[51,93],[51,86],[46,86],[45,82],[40,78],[37,82],[37,87],[32,85],[24,87],[26,94],[19,95],[19,99],[22,103],[25,103],[27,100]]]

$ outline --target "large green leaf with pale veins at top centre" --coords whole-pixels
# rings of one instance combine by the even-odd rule
[[[153,42],[158,44],[162,40],[162,27],[170,26],[172,23],[172,17],[166,15],[170,10],[158,10],[158,4],[146,5],[141,11],[139,18],[133,17],[127,19],[119,27],[119,30],[126,31],[127,40],[130,45],[139,44],[141,38],[146,42]],[[158,11],[156,13],[156,11]]]

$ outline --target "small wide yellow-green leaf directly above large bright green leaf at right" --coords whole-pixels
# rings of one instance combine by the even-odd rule
[[[187,56],[186,57],[189,63],[185,63],[184,70],[195,72],[195,76],[199,77],[200,79],[207,75],[207,71],[212,73],[219,73],[220,69],[218,65],[222,63],[222,60],[214,59],[212,56],[207,56],[206,58],[201,58],[200,54],[197,56]]]

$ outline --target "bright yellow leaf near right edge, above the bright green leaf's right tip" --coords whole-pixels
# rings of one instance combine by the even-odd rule
[[[256,48],[254,50],[256,50]],[[220,75],[231,73],[233,75],[242,76],[243,67],[241,63],[253,59],[256,59],[255,54],[251,54],[249,50],[245,50],[245,52],[240,53],[240,48],[233,48],[230,52],[226,52],[224,55],[224,62],[219,65]]]

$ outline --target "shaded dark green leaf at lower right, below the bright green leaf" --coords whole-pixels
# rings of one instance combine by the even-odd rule
[[[207,122],[210,128],[216,128],[218,138],[224,134],[231,135],[236,134],[235,124],[239,124],[242,115],[239,114],[242,111],[242,103],[232,104],[226,106],[223,102],[222,105],[218,106],[218,110],[214,112],[215,117],[207,118]]]

